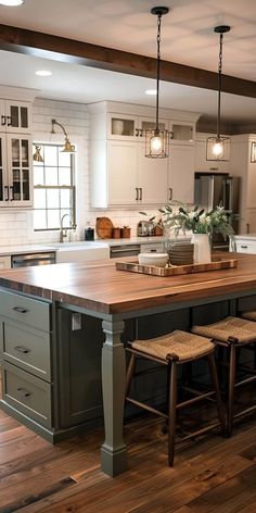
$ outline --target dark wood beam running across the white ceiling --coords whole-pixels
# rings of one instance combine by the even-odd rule
[[[0,25],[0,49],[129,75],[156,76],[153,58],[8,25]],[[161,62],[162,80],[217,90],[217,76],[206,70]],[[222,91],[256,98],[256,83],[223,75]]]

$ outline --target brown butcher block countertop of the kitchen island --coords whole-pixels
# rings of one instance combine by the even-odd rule
[[[104,314],[256,291],[256,255],[218,255],[235,258],[238,267],[157,277],[117,271],[114,260],[104,260],[5,271],[0,274],[0,286]]]

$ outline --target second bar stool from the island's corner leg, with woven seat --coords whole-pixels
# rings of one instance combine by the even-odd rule
[[[254,412],[256,404],[240,410],[234,414],[234,389],[242,385],[248,384],[256,379],[256,376],[247,377],[235,381],[235,360],[236,351],[242,347],[248,347],[256,341],[256,323],[252,321],[245,321],[241,317],[226,317],[225,320],[208,324],[205,326],[193,326],[191,331],[202,337],[209,337],[214,342],[220,347],[227,348],[228,353],[228,367],[229,367],[229,383],[228,383],[228,401],[227,401],[227,413],[228,413],[228,426],[227,435],[230,437],[232,434],[233,420]]]

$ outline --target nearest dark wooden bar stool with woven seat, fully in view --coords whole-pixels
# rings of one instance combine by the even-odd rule
[[[162,337],[153,338],[150,340],[135,340],[132,342],[129,342],[127,351],[131,353],[131,358],[126,376],[126,401],[136,404],[137,406],[143,408],[144,410],[148,410],[149,412],[159,415],[168,421],[169,466],[174,465],[175,458],[177,410],[196,403],[202,399],[213,400],[212,396],[216,395],[218,421],[214,424],[212,423],[212,425],[208,424],[207,426],[187,435],[184,438],[182,438],[182,441],[189,438],[193,438],[196,435],[202,435],[203,433],[213,429],[214,427],[219,425],[221,425],[222,430],[225,430],[225,416],[221,405],[220,390],[214,359],[215,346],[208,338],[200,337],[197,335],[192,335],[191,333],[177,329]],[[129,397],[137,356],[141,356],[167,366],[167,414]],[[192,392],[194,397],[192,399],[188,399],[183,402],[177,403],[177,366],[188,362],[203,359],[204,356],[207,356],[208,360],[213,390],[205,393],[201,393],[196,390],[193,390]]]

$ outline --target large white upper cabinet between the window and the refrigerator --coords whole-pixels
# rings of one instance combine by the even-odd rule
[[[192,201],[197,114],[163,110],[159,128],[172,130],[175,138],[168,158],[151,159],[145,157],[144,134],[155,128],[155,109],[99,102],[89,110],[91,207],[159,208],[171,193]]]

